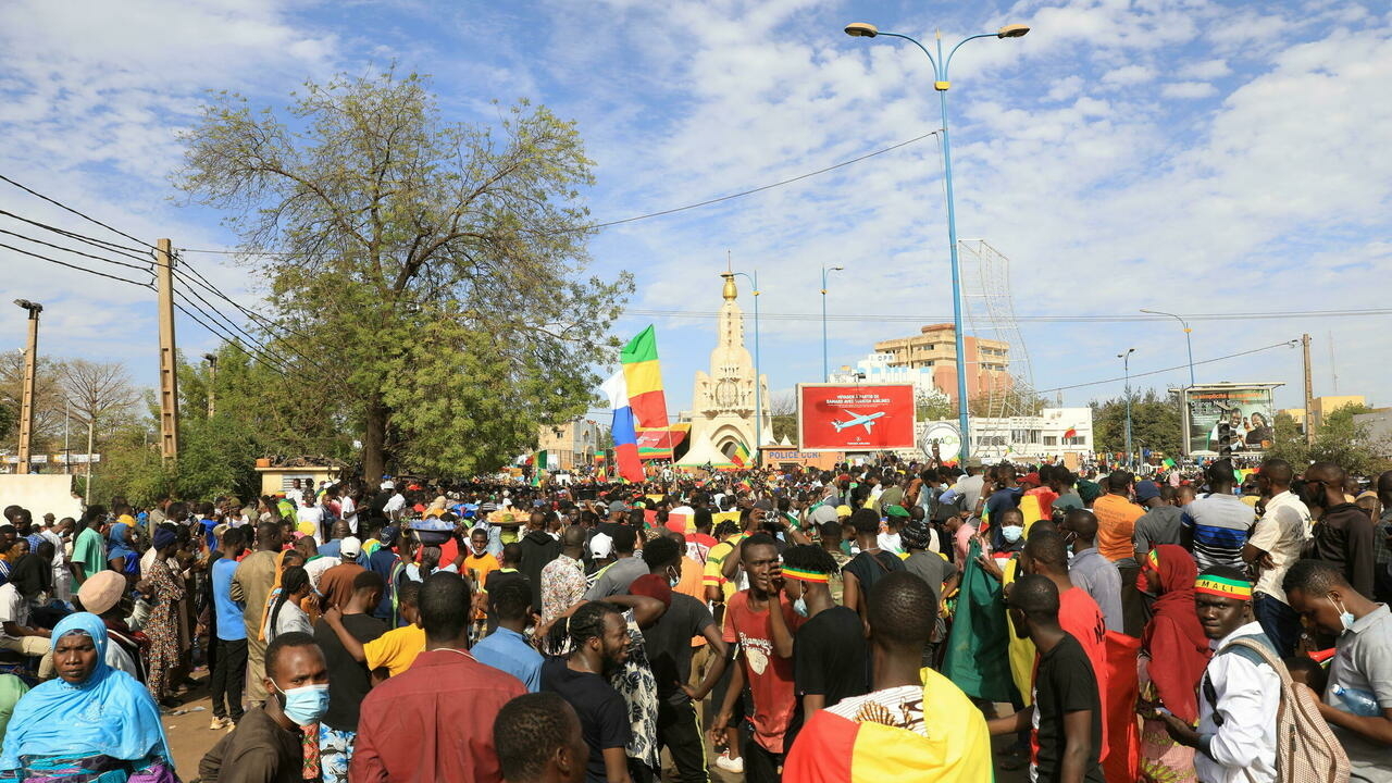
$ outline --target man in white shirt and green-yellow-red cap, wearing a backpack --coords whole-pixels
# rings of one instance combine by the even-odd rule
[[[1194,582],[1194,606],[1217,652],[1199,685],[1199,730],[1161,713],[1169,736],[1196,748],[1194,769],[1204,783],[1268,783],[1276,779],[1276,709],[1281,676],[1254,652],[1232,642],[1275,646],[1251,613],[1251,582],[1231,566],[1214,566]]]

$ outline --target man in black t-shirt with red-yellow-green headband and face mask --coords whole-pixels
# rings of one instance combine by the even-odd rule
[[[941,560],[937,555],[931,557]],[[835,571],[837,561],[820,546],[789,546],[784,552],[782,592],[792,599],[793,612],[805,619],[792,642],[798,708],[784,747],[792,747],[812,713],[870,690],[864,628],[859,614],[831,599],[828,584]]]

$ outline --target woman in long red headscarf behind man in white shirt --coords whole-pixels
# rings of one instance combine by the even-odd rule
[[[1193,723],[1199,719],[1199,680],[1208,665],[1208,637],[1194,609],[1199,568],[1182,546],[1164,543],[1150,552],[1136,577],[1136,588],[1157,595],[1154,614],[1141,633],[1140,701],[1141,780],[1194,780],[1194,751],[1169,738],[1155,706]]]

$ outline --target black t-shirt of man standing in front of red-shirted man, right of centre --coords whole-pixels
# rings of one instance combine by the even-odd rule
[[[1058,780],[1063,763],[1063,748],[1068,737],[1063,733],[1063,716],[1069,712],[1090,709],[1093,712],[1093,751],[1084,780],[1104,783],[1098,757],[1102,750],[1102,708],[1097,697],[1097,676],[1093,665],[1070,634],[1054,649],[1040,655],[1038,673],[1034,677],[1034,720],[1036,730],[1031,743],[1034,758],[1038,759],[1038,779]]]

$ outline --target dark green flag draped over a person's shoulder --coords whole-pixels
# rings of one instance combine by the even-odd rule
[[[1001,584],[976,564],[981,545],[972,542],[958,596],[942,673],[966,695],[1011,702],[1011,621],[1005,617]]]

